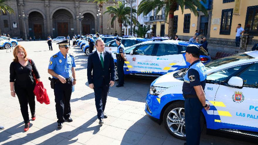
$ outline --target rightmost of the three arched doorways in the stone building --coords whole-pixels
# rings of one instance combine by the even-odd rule
[[[82,34],[94,34],[95,33],[95,18],[91,13],[84,13],[82,20]]]

